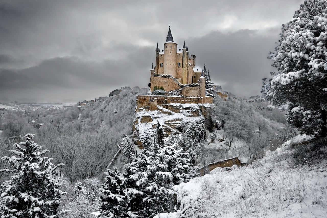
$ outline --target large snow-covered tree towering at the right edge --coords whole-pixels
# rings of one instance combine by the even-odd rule
[[[289,103],[287,121],[307,134],[326,136],[327,2],[305,0],[282,26],[269,59],[277,72],[264,78],[262,93],[274,105]]]

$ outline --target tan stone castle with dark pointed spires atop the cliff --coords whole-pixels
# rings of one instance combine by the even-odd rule
[[[196,56],[189,56],[188,46],[178,47],[174,42],[169,27],[164,48],[160,50],[157,44],[156,63],[150,69],[150,89],[163,87],[166,92],[179,91],[178,97],[163,96],[156,98],[158,104],[163,103],[213,103],[213,98],[206,96],[205,77],[210,78],[205,65],[202,69],[196,65]],[[149,106],[152,98],[149,96],[138,96],[139,106]],[[141,103],[143,102],[143,103]]]

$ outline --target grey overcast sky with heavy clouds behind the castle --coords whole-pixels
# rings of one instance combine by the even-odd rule
[[[215,84],[260,94],[302,0],[0,0],[0,101],[77,102],[146,87],[168,24]]]

